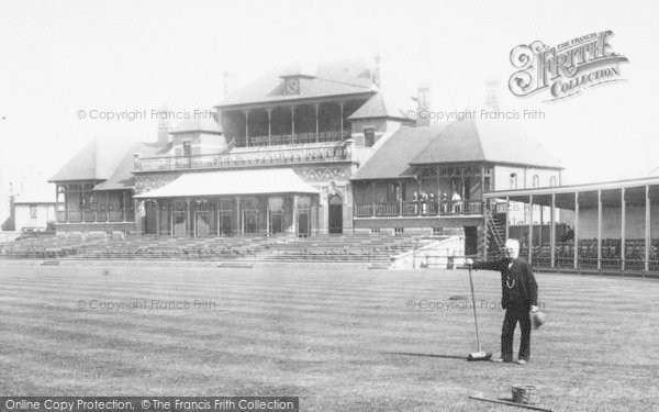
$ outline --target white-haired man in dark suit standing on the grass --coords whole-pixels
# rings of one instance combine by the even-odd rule
[[[520,258],[520,242],[505,241],[507,257],[500,260],[477,261],[467,259],[474,269],[501,271],[501,305],[505,309],[501,332],[501,358],[493,361],[513,361],[513,337],[520,322],[522,341],[517,364],[524,365],[530,356],[530,312],[538,310],[538,286],[530,265]]]

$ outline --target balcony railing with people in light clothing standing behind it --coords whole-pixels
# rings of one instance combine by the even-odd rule
[[[483,213],[481,200],[446,202],[403,201],[392,203],[355,203],[356,218],[465,216]]]

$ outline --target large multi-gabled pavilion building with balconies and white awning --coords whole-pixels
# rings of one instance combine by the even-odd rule
[[[491,219],[484,192],[558,186],[561,168],[510,122],[429,125],[411,116],[427,108],[428,93],[389,91],[378,66],[361,59],[272,70],[228,93],[216,116],[174,129],[163,122],[157,143],[90,143],[51,179],[57,231],[309,236],[450,227],[476,248]]]

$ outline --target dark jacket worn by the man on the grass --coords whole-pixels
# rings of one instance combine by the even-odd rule
[[[513,265],[509,268],[510,263]],[[501,305],[503,309],[526,309],[538,304],[538,285],[530,265],[524,259],[477,261],[474,269],[501,271]]]

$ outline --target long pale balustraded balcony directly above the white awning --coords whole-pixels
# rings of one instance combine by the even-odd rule
[[[322,144],[311,147],[234,148],[228,153],[194,156],[136,157],[135,171],[221,169],[275,165],[345,162],[351,158],[346,144]]]

